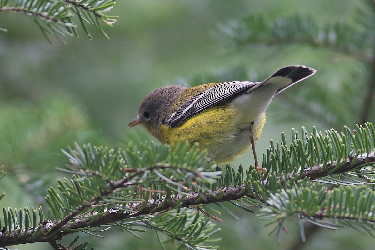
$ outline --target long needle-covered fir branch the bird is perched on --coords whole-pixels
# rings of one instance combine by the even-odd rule
[[[285,213],[278,209],[290,204],[285,203],[285,199],[301,202],[306,200],[306,195],[312,194],[309,191],[312,190],[319,194],[311,197],[312,201],[324,201],[325,189],[309,180],[321,181],[321,177],[331,176],[331,182],[339,184],[343,183],[343,180],[335,181],[333,176],[336,174],[348,171],[351,171],[352,175],[375,174],[372,166],[375,162],[375,130],[371,123],[367,123],[366,128],[357,126],[357,130],[353,132],[345,128],[345,133],[341,136],[334,130],[327,130],[325,136],[315,130],[312,136],[307,135],[304,128],[302,136],[294,131],[294,140],[289,148],[285,146],[287,143],[283,134],[281,144],[271,141],[263,161],[263,166],[268,169],[266,175],[260,174],[252,167],[245,170],[242,166],[238,172],[227,166],[225,176],[219,175],[220,172],[214,171],[215,165],[207,158],[205,151],[199,153],[197,144],[190,147],[183,141],[177,145],[152,142],[142,144],[140,148],[130,144],[126,150],[118,151],[90,145],[81,148],[77,145],[76,150],[65,152],[73,164],[68,170],[74,173],[71,184],[67,180],[59,181],[61,194],[50,188],[50,195],[46,198],[57,220],[45,220],[40,208],[25,208],[19,213],[5,209],[5,221],[0,221],[1,225],[5,225],[0,232],[0,246],[53,242],[61,240],[65,235],[118,222],[145,227],[151,223],[152,227],[163,234],[180,239],[183,244],[190,242],[191,246],[195,246],[193,243],[196,239],[187,236],[194,234],[187,234],[188,238],[178,238],[177,235],[186,234],[189,227],[207,225],[202,219],[196,222],[198,224],[194,224],[196,220],[192,219],[194,226],[185,223],[183,232],[178,233],[166,230],[163,228],[164,224],[159,225],[157,220],[152,222],[153,218],[157,218],[155,215],[167,214],[175,223],[180,223],[180,220],[186,221],[186,218],[178,219],[178,213],[172,213],[176,208],[180,210],[199,207],[202,211],[202,206],[204,208],[207,204],[239,201],[242,204],[261,205],[264,207],[262,216],[275,222],[280,218],[285,219]],[[156,169],[163,177],[154,173]],[[157,186],[153,186],[152,183],[155,182],[158,183]],[[183,187],[188,187],[189,192]],[[160,197],[161,192],[164,192],[164,195]],[[294,194],[305,198],[301,200]],[[234,204],[251,211],[240,204]],[[301,210],[297,208],[285,209],[289,209],[289,214],[297,215],[308,211],[304,207],[301,207]],[[326,208],[327,205],[311,211],[317,218],[325,217],[323,210]],[[207,212],[202,214],[216,218]],[[310,215],[311,219],[315,218],[314,214]],[[352,217],[355,216],[356,214]],[[340,218],[350,219],[349,217]],[[170,226],[172,225],[174,224]],[[123,226],[129,229],[129,226]],[[213,234],[214,231],[208,231],[207,234],[211,234],[210,232]],[[201,237],[197,242],[204,240],[205,238]]]

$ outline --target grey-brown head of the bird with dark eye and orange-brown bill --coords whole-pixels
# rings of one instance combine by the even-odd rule
[[[186,87],[180,85],[157,88],[148,94],[139,107],[138,116],[128,127],[142,124],[153,136],[159,139],[159,129],[169,108]]]

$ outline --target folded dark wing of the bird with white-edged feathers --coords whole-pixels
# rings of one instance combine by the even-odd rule
[[[226,100],[241,91],[248,91],[259,82],[249,81],[233,81],[233,82],[222,82],[196,94],[190,98],[184,105],[177,109],[172,115],[166,120],[166,124],[169,127],[175,127],[181,122],[189,119],[190,117],[204,111],[223,100]]]

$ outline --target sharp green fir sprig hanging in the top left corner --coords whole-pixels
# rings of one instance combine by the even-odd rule
[[[81,26],[90,39],[92,37],[85,23],[92,24],[108,38],[101,27],[101,22],[109,26],[114,24],[117,16],[105,14],[113,8],[114,4],[114,0],[9,0],[0,1],[0,12],[19,12],[30,16],[52,44],[50,34],[54,34],[62,42],[65,42],[61,38],[64,35],[78,37],[76,30],[78,26],[72,19],[74,16],[78,16]]]

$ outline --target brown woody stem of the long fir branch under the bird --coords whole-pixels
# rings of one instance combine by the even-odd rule
[[[323,170],[323,165],[321,165],[321,164],[317,165],[317,166],[313,166],[309,169],[305,169],[305,171],[303,171],[303,174],[300,176],[300,179],[303,179],[305,177],[309,177],[311,180],[314,180],[314,179],[324,177],[324,176],[327,176],[327,175],[340,174],[340,173],[343,173],[343,172],[347,172],[347,171],[350,171],[352,169],[356,169],[360,166],[363,166],[365,164],[367,164],[367,165],[371,164],[371,163],[374,164],[375,153],[372,152],[369,155],[366,155],[366,154],[360,155],[359,157],[357,157],[356,162],[354,162],[354,164],[352,165],[353,159],[354,159],[353,156],[347,157],[347,160],[345,162],[340,162],[339,163],[340,167],[333,172],[330,172],[330,171],[332,171],[333,169],[336,168],[336,166],[337,166],[336,161],[334,161],[333,163],[328,163],[326,165],[326,169],[324,169],[324,170]],[[286,175],[286,176],[284,176],[283,179],[287,180],[290,177],[291,177],[291,175]],[[118,185],[120,185],[120,183],[124,184],[126,182],[126,180],[128,180],[128,178],[117,181],[116,183]],[[251,183],[249,183],[249,184],[250,184],[250,187],[252,188]],[[112,185],[111,185],[111,187],[113,189],[117,188],[117,187],[112,186]],[[264,202],[265,204],[267,204],[267,201],[265,199],[263,199],[261,196],[258,196],[258,195],[255,196],[251,192],[242,192],[244,188],[246,188],[245,184],[242,184],[242,185],[239,185],[239,186],[230,186],[228,188],[219,188],[219,189],[214,190],[212,193],[208,193],[207,195],[205,195],[204,196],[205,199],[199,199],[200,196],[199,196],[198,192],[192,192],[192,193],[190,193],[192,196],[186,196],[186,198],[184,198],[181,201],[182,205],[180,205],[179,207],[183,208],[183,207],[190,207],[192,205],[196,206],[196,205],[199,205],[199,204],[204,205],[204,204],[213,204],[213,203],[219,203],[219,202],[224,202],[224,201],[233,201],[233,200],[241,199],[244,196],[248,196],[250,198],[258,199],[258,200]],[[252,191],[254,191],[254,190],[252,190]],[[219,196],[219,194],[221,192],[223,192],[224,195],[222,195],[220,199],[217,199],[217,197]],[[90,224],[89,224],[89,222],[91,222],[92,218],[84,218],[84,216],[82,217],[82,219],[75,219],[73,223],[68,224],[68,222],[70,220],[74,219],[74,217],[78,215],[76,213],[72,213],[72,214],[74,214],[73,217],[72,217],[72,214],[71,214],[69,216],[69,218],[65,218],[63,220],[66,223],[65,225],[62,225],[62,221],[43,223],[42,230],[41,230],[40,234],[36,238],[34,238],[33,240],[30,240],[30,237],[34,233],[32,231],[32,228],[28,229],[28,232],[26,233],[26,235],[24,235],[23,231],[21,231],[21,232],[12,231],[10,233],[9,232],[0,232],[0,246],[5,247],[5,246],[17,245],[17,244],[26,244],[26,243],[34,243],[34,242],[51,242],[53,240],[61,240],[63,236],[75,233],[74,231],[65,231],[64,230],[65,228],[80,229],[80,228],[85,228],[88,225],[93,228],[95,226],[105,225],[105,224],[115,222],[115,221],[118,221],[118,220],[126,220],[126,219],[139,217],[139,216],[148,216],[148,215],[155,214],[155,213],[163,213],[165,211],[172,210],[177,205],[176,202],[180,198],[182,198],[181,194],[176,195],[176,197],[174,199],[172,199],[171,201],[165,202],[160,207],[158,207],[158,206],[163,202],[163,199],[158,199],[156,201],[154,201],[153,199],[150,199],[148,201],[148,204],[141,210],[139,210],[139,209],[142,206],[144,206],[144,204],[142,204],[142,203],[133,204],[133,206],[131,207],[131,210],[133,212],[131,212],[131,213],[123,212],[121,210],[119,210],[117,212],[111,211],[111,212],[108,212],[107,214],[102,215],[100,218],[96,219],[94,222],[92,222]],[[158,208],[156,208],[156,207],[158,207]],[[128,207],[128,208],[130,208],[130,207]],[[322,215],[322,216],[324,216],[324,215]],[[46,239],[45,238],[46,232],[48,230],[50,230],[52,226],[55,226],[55,229],[54,229],[55,235],[52,236],[49,239]]]

